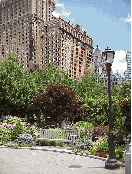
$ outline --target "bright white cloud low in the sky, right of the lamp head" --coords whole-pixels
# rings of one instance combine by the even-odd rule
[[[112,64],[112,70],[114,73],[117,72],[124,72],[127,70],[127,62],[124,61],[124,58],[126,57],[126,52],[123,50],[117,50],[115,51],[115,57]]]

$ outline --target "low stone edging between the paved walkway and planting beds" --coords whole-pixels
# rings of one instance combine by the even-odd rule
[[[107,158],[95,156],[95,155],[87,155],[87,154],[82,154],[82,153],[75,153],[72,150],[64,149],[64,148],[55,148],[54,146],[49,147],[7,147],[7,146],[0,146],[0,148],[14,148],[14,149],[30,149],[30,150],[43,150],[43,151],[53,151],[53,152],[60,152],[60,153],[68,153],[68,154],[75,154],[75,155],[80,155],[84,157],[89,157],[89,158],[94,158],[102,161],[107,161]],[[119,162],[121,167],[125,167],[125,164],[122,162]]]

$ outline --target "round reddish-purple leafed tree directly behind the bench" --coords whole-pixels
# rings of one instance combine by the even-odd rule
[[[75,91],[64,85],[49,85],[44,94],[33,96],[30,108],[35,113],[43,115],[47,124],[61,126],[61,122],[70,122],[82,119],[83,109],[81,102],[76,101]]]

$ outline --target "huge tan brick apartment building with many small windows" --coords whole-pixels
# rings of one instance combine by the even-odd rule
[[[94,67],[93,40],[78,24],[56,18],[55,0],[0,1],[0,61],[12,52],[25,69],[51,62],[76,78]]]

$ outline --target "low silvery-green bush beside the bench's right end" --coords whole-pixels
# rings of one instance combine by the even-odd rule
[[[76,146],[76,149],[90,150],[93,146],[93,143],[92,143],[92,140],[86,137],[83,137],[76,140],[75,146]]]

